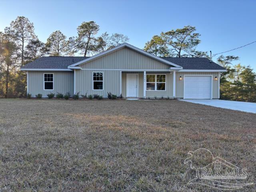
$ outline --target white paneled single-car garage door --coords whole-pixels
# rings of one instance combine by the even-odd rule
[[[211,99],[212,76],[184,76],[184,99]]]

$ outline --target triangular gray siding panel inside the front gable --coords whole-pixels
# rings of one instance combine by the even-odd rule
[[[169,65],[145,56],[129,48],[122,48],[110,54],[80,65],[82,69],[121,69],[121,70],[168,70]]]

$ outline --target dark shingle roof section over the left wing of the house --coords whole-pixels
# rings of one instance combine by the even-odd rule
[[[88,57],[40,57],[22,69],[67,69],[69,65],[82,61]]]

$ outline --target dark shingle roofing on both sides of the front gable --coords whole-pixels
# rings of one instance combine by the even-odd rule
[[[33,62],[22,66],[22,69],[67,69],[69,65],[82,61],[89,57],[41,57]],[[178,58],[162,57],[174,64],[182,66],[183,69],[204,69],[204,70],[222,70],[222,66],[210,62],[208,58]]]

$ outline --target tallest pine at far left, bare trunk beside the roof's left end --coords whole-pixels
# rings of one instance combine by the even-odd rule
[[[5,28],[5,33],[14,40],[18,47],[21,65],[24,65],[24,52],[26,44],[35,37],[34,24],[24,16],[18,16]]]

